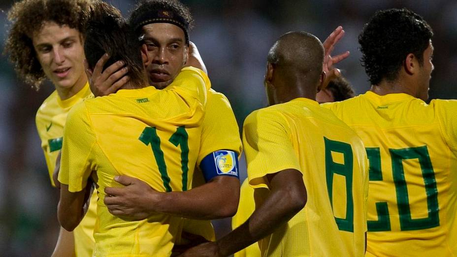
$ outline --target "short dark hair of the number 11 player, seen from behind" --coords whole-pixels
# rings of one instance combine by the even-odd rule
[[[121,12],[105,2],[95,2],[90,7],[86,28],[84,52],[89,68],[94,69],[98,60],[108,53],[110,58],[103,69],[123,60],[129,68],[131,83],[142,83],[144,70],[141,58],[141,42],[122,17]]]

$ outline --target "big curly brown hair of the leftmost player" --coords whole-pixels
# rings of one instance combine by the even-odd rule
[[[76,29],[84,35],[87,10],[92,0],[22,0],[8,12],[11,23],[4,53],[25,82],[38,90],[46,75],[33,48],[33,34],[45,22]]]

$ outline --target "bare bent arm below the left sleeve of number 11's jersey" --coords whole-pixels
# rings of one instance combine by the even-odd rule
[[[61,184],[57,218],[67,231],[73,231],[83,219],[89,208],[92,192],[92,183],[88,183],[86,188],[79,192],[69,192],[68,185]]]

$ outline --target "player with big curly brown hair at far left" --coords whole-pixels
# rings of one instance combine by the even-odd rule
[[[45,79],[55,87],[36,113],[36,127],[53,187],[66,115],[76,103],[92,97],[84,74],[83,12],[88,4],[88,0],[22,0],[8,13],[12,27],[5,49],[17,73],[37,90]],[[92,256],[96,197],[94,193],[94,204],[73,232],[60,229],[53,256]]]

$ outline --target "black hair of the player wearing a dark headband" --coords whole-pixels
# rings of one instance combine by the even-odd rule
[[[180,27],[189,45],[194,19],[189,8],[178,0],[140,0],[131,12],[129,24],[140,36],[143,26],[151,23],[171,23]]]

